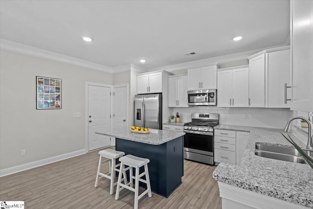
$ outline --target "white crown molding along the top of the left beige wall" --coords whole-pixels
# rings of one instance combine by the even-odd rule
[[[47,51],[47,50],[36,48],[33,46],[23,45],[23,44],[8,41],[5,39],[0,39],[0,48],[4,50],[21,53],[21,54],[26,54],[26,55],[40,57],[40,58],[44,58],[48,60],[62,62],[62,63],[70,64],[70,65],[76,65],[76,66],[88,68],[91,70],[98,70],[98,71],[112,73],[112,68],[104,66],[104,65],[99,65],[99,64],[92,63],[89,61],[77,59],[74,57],[66,56],[66,55],[55,53],[52,51]]]

